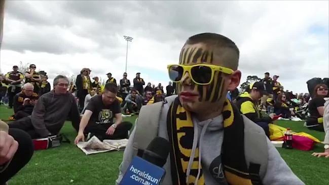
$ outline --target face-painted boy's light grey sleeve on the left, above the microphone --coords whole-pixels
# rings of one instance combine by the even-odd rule
[[[136,122],[137,122],[137,120],[135,121],[135,126],[136,126]],[[132,161],[132,157],[133,157],[132,143],[133,143],[133,138],[135,137],[135,128],[129,136],[129,140],[128,140],[125,152],[123,153],[122,162],[119,166],[119,176],[118,176],[118,179],[116,180],[116,184],[119,184],[121,182],[123,175],[126,173],[128,167]]]

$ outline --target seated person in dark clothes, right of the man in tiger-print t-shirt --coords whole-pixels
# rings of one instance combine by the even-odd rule
[[[130,94],[127,95],[125,101],[126,104],[124,105],[123,109],[125,110],[126,114],[139,113],[139,109],[141,107],[141,98],[139,95],[137,95],[137,91],[135,89],[131,90]]]

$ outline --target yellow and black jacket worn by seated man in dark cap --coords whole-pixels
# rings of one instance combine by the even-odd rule
[[[270,123],[272,119],[268,116],[263,117],[258,104],[252,101],[248,92],[239,95],[235,103],[240,110],[241,114],[249,118],[253,122],[266,122]]]

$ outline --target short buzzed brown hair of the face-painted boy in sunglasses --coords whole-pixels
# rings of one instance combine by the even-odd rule
[[[196,34],[186,41],[184,47],[198,43],[205,44],[207,48],[212,49],[214,56],[223,57],[225,67],[233,70],[238,68],[240,51],[235,43],[226,36],[217,33]]]

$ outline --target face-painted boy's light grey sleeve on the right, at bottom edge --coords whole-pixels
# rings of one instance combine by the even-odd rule
[[[263,178],[263,184],[304,185],[304,182],[302,182],[302,180],[291,171],[285,161],[281,158],[279,152],[275,149],[269,139],[267,139],[267,145],[269,158],[266,174]]]

